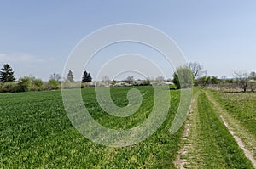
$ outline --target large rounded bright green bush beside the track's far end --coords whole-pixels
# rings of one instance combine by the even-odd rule
[[[173,83],[177,88],[189,88],[193,86],[194,76],[187,66],[177,68],[173,74]]]

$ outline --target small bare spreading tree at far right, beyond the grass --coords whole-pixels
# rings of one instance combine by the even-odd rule
[[[236,78],[237,85],[241,87],[243,92],[247,92],[249,75],[246,72],[234,71],[233,76]]]

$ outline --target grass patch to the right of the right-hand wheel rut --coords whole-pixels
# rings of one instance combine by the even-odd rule
[[[218,104],[256,136],[256,93],[213,93]]]

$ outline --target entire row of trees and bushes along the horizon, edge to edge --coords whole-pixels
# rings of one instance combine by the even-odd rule
[[[227,79],[225,76],[218,79],[217,76],[207,76],[203,66],[197,62],[190,62],[187,65],[178,67],[172,76],[172,80],[168,79],[166,82],[173,82],[179,88],[188,88],[193,86],[212,87],[218,90],[232,91],[250,91],[256,90],[256,73],[245,73],[242,71],[234,71],[233,78]],[[81,82],[75,82],[72,70],[69,70],[67,77],[64,79],[60,74],[52,74],[48,82],[43,82],[41,79],[34,76],[24,76],[16,81],[15,72],[9,64],[4,64],[0,71],[0,92],[25,92],[25,91],[40,91],[40,90],[55,90],[61,88],[61,82],[65,88],[78,88],[93,86],[88,82],[92,81],[90,73],[86,70],[82,76]],[[151,85],[152,80],[145,80],[143,83],[132,83],[135,79],[133,76],[128,76],[124,81],[129,85]],[[158,76],[154,82],[165,81],[163,76]],[[110,80],[108,76],[102,78],[102,82],[108,84],[116,84],[117,81]]]

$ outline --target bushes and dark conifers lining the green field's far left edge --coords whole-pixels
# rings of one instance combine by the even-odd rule
[[[41,91],[41,90],[55,90],[61,88],[61,82],[72,83],[70,87],[85,87],[88,82],[92,81],[90,73],[86,70],[82,76],[82,86],[80,82],[74,81],[74,76],[72,70],[67,73],[67,78],[62,79],[60,74],[52,74],[49,77],[48,82],[43,82],[34,76],[24,76],[19,78],[17,81],[15,79],[15,71],[9,64],[4,64],[3,68],[0,70],[0,92],[26,92],[26,91]]]

